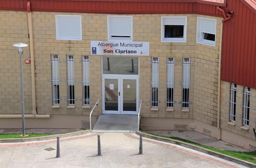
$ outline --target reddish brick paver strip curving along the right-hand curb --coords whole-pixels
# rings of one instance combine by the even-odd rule
[[[136,137],[136,136],[134,136],[133,134],[130,134],[130,133],[124,133],[124,135],[127,136],[127,137],[129,137],[129,138],[133,138],[133,139],[140,140],[139,137]],[[157,142],[157,141],[152,141],[152,140],[148,140],[148,139],[143,139],[143,142],[149,142],[149,143],[161,145],[161,146],[164,146],[164,147],[172,148],[172,149],[174,149],[174,150],[178,150],[178,151],[180,151],[180,152],[187,153],[187,154],[193,155],[193,156],[195,156],[195,157],[198,157],[198,158],[201,158],[201,159],[204,159],[204,160],[208,160],[208,161],[210,161],[210,162],[213,162],[213,163],[216,163],[216,164],[225,166],[225,167],[232,167],[232,168],[236,167],[236,168],[240,168],[240,167],[235,166],[235,165],[232,165],[232,164],[230,164],[230,163],[227,163],[227,162],[224,162],[224,161],[221,161],[221,160],[217,160],[217,159],[214,159],[214,158],[205,156],[205,155],[201,155],[201,154],[199,154],[199,153],[192,152],[192,151],[190,151],[190,150],[186,150],[186,149],[183,149],[183,148],[179,148],[179,147],[174,146],[174,145],[168,145],[168,144],[166,144],[166,143]]]

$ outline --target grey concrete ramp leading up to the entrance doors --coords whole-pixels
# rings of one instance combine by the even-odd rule
[[[133,133],[138,130],[138,115],[102,114],[99,115],[92,132]]]

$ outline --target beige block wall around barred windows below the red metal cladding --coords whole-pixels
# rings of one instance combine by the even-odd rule
[[[230,122],[230,88],[231,83],[221,81],[221,111],[220,111],[220,128],[232,133],[254,139],[253,129],[256,127],[256,89],[251,88],[250,93],[250,111],[249,111],[249,130],[242,129],[243,126],[243,104],[244,104],[244,87],[237,85],[236,93],[236,121],[235,125]],[[237,144],[244,146],[244,144]]]

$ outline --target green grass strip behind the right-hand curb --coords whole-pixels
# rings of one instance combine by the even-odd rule
[[[173,139],[173,140],[178,140],[178,141],[182,141],[182,142],[186,142],[195,146],[199,146],[202,148],[206,148],[215,152],[219,152],[222,154],[226,154],[229,156],[232,156],[234,158],[238,158],[238,159],[242,159],[251,163],[256,163],[256,151],[251,151],[251,152],[237,152],[237,151],[229,151],[229,150],[224,150],[224,149],[218,149],[218,148],[213,148],[213,147],[209,147],[209,146],[204,146],[201,145],[199,143],[195,143],[186,139],[182,139],[182,138],[178,138],[178,137],[166,137],[166,136],[160,136],[160,135],[156,135],[156,134],[152,134],[149,133],[147,131],[141,131],[142,133],[146,133],[146,134],[150,134],[150,135],[154,135],[154,136],[158,136],[158,137],[163,137],[163,138],[168,138],[168,139]]]

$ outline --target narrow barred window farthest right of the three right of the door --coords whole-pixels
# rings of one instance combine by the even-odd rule
[[[190,89],[190,58],[183,58],[182,62],[182,108],[189,109]]]

